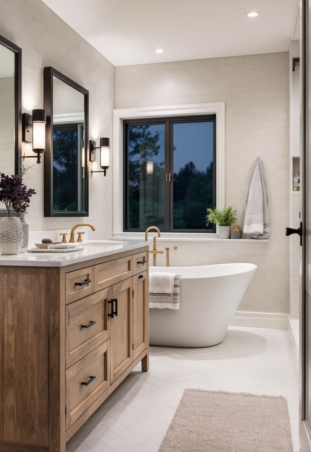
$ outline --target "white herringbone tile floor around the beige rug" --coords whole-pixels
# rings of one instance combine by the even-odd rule
[[[67,443],[67,452],[157,452],[187,387],[284,395],[294,452],[298,381],[288,332],[231,327],[210,348],[151,347],[150,370],[137,366]]]

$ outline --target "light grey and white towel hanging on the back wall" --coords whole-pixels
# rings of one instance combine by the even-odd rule
[[[267,239],[270,235],[268,198],[262,162],[256,158],[244,197],[244,234],[254,239]]]

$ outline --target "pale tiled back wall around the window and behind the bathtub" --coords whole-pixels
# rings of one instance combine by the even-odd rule
[[[226,102],[226,204],[243,198],[255,157],[265,170],[269,243],[181,243],[171,247],[171,265],[251,262],[258,266],[239,309],[288,312],[289,154],[288,52],[116,68],[116,108]],[[173,245],[178,245],[176,251]],[[165,251],[165,250],[164,250]],[[157,265],[165,265],[165,256]]]

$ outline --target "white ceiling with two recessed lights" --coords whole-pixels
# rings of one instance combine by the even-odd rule
[[[297,6],[297,0],[43,1],[115,66],[288,51]],[[248,18],[249,11],[260,15]]]

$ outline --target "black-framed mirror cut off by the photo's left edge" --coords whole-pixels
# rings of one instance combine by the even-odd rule
[[[0,35],[0,173],[19,174],[21,167],[22,49]],[[0,203],[0,217],[6,216]]]

